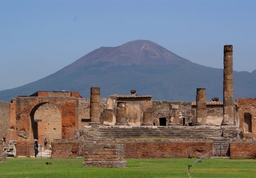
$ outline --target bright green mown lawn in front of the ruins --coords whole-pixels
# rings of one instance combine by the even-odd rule
[[[83,161],[8,158],[0,163],[0,178],[189,178],[183,173],[196,159],[126,159],[126,168],[83,167]],[[255,178],[256,160],[203,159],[191,172],[191,178]]]

